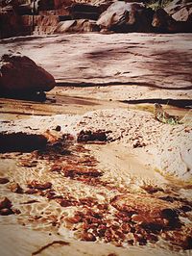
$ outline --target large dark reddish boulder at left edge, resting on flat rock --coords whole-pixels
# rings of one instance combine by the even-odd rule
[[[3,55],[0,66],[0,94],[25,94],[52,90],[54,77],[26,56]]]

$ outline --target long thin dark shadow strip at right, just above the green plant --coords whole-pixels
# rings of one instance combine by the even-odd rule
[[[127,104],[158,103],[158,104],[164,104],[164,105],[171,105],[178,108],[192,108],[192,100],[190,99],[153,98],[153,99],[121,100],[120,102],[127,103]]]

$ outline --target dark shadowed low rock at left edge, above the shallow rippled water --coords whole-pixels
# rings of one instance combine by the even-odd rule
[[[31,152],[42,149],[47,140],[42,135],[26,133],[0,133],[0,152]]]

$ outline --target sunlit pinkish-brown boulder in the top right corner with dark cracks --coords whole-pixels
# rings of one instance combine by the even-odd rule
[[[165,7],[165,11],[177,21],[187,21],[192,16],[192,2],[190,0],[174,0]]]

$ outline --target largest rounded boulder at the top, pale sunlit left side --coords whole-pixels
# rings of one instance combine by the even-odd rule
[[[97,24],[115,32],[152,32],[153,13],[141,3],[117,1],[101,14]]]

